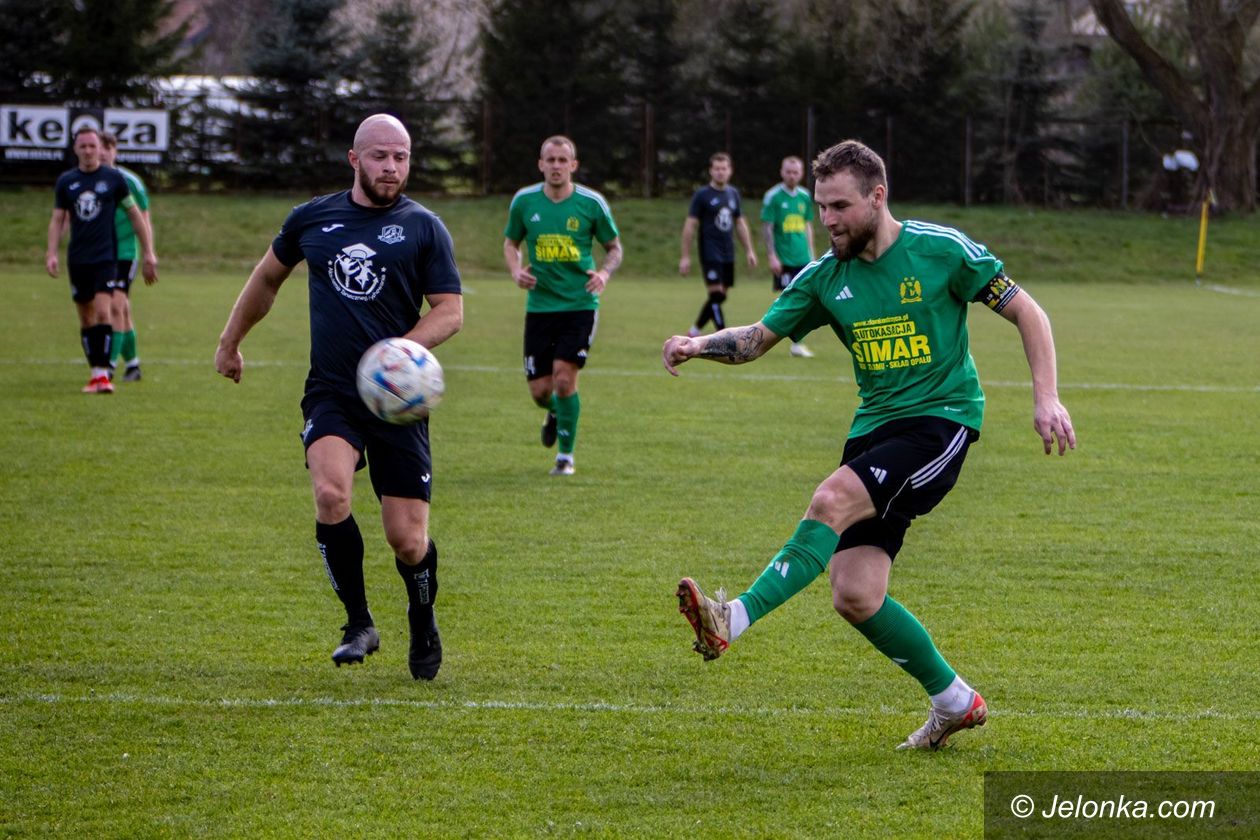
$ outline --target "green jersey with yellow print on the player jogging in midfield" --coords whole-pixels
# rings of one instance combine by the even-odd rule
[[[604,196],[581,184],[563,201],[552,201],[542,184],[518,191],[508,208],[503,236],[524,242],[529,272],[538,285],[529,290],[527,312],[577,312],[600,307],[600,296],[586,291],[595,270],[592,244],[615,239],[617,225]]]

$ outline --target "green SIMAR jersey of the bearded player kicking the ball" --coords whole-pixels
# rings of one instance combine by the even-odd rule
[[[988,248],[953,228],[905,222],[874,262],[810,263],[762,319],[799,341],[830,326],[853,356],[862,403],[849,437],[901,417],[944,417],[979,431],[984,392],[966,305],[1002,272]]]

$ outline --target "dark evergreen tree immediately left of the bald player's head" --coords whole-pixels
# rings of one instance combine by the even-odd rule
[[[354,136],[346,96],[349,33],[335,19],[344,0],[277,0],[255,29],[251,81],[237,92],[239,174],[252,186],[344,184],[336,166]]]

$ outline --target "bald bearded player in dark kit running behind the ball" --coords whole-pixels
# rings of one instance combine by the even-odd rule
[[[232,307],[214,366],[241,382],[241,341],[305,259],[311,366],[301,438],[315,491],[315,542],[346,617],[333,661],[339,667],[362,662],[381,646],[363,583],[363,536],[350,513],[354,472],[367,466],[407,591],[407,662],[415,679],[431,680],[442,664],[442,644],[433,615],[437,547],[428,536],[428,423],[378,419],[359,399],[355,369],[381,339],[403,336],[435,348],[455,335],[464,324],[460,275],[445,225],[403,195],[411,166],[403,125],[386,115],[364,120],[349,162],[350,189],[315,198],[285,219]]]

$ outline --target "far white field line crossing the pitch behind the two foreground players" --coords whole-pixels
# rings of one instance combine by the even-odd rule
[[[163,359],[160,361],[146,361],[150,366],[164,368],[164,366],[184,366],[184,368],[205,368],[207,372],[213,373],[212,363],[202,359]],[[26,365],[76,365],[83,366],[83,359],[0,359],[0,366],[26,366]],[[301,368],[309,366],[307,361],[286,361],[282,359],[246,359],[246,375],[249,373],[249,368]],[[496,375],[520,375],[520,368],[503,368],[495,365],[460,365],[451,364],[444,365],[447,370],[460,370],[462,373],[488,373]],[[649,369],[649,370],[626,370],[621,368],[592,368],[586,373],[587,377],[668,377],[663,369]],[[843,375],[809,375],[809,374],[764,374],[751,370],[696,370],[689,366],[683,372],[683,378],[688,379],[727,379],[736,382],[816,382],[816,383],[840,383],[840,384],[854,384],[852,377]],[[1032,388],[1028,380],[1004,380],[1004,379],[984,379],[980,378],[980,384],[985,388],[1019,388],[1028,390]],[[1203,384],[1184,384],[1184,383],[1167,383],[1159,385],[1133,383],[1133,382],[1061,382],[1058,383],[1061,390],[1071,390],[1074,388],[1080,390],[1129,390],[1129,392],[1188,392],[1198,394],[1260,394],[1260,385],[1203,385]]]

